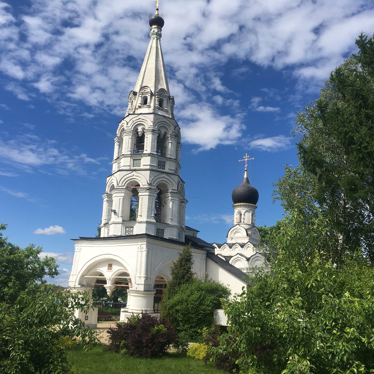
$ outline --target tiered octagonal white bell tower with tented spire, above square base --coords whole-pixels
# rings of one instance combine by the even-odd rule
[[[149,25],[148,49],[114,138],[101,237],[145,233],[183,242],[187,200],[180,177],[181,134],[163,61],[164,20],[158,8]]]

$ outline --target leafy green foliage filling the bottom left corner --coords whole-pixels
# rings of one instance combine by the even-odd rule
[[[87,292],[53,292],[49,285],[38,291],[21,292],[12,304],[0,303],[1,373],[70,373],[61,338],[76,337],[86,349],[98,341],[96,332],[74,316],[75,308],[88,312],[91,307]]]

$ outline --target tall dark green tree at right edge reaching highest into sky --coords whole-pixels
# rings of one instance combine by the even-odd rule
[[[332,71],[321,95],[297,118],[300,166],[286,166],[276,198],[307,221],[318,204],[340,245],[338,266],[363,249],[374,260],[374,39],[361,34],[352,55]]]

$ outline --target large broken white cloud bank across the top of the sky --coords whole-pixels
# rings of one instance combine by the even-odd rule
[[[208,139],[208,121],[183,118],[186,140],[199,150],[232,144],[242,135],[237,113],[225,116],[227,127],[218,120],[221,105],[231,99],[220,78],[224,64],[242,62],[231,72],[235,77],[248,73],[250,63],[285,69],[300,87],[315,89],[344,56],[355,52],[354,39],[361,30],[374,31],[374,5],[368,0],[234,0],[230,7],[223,0],[175,0],[164,12],[163,52],[178,109],[188,113],[193,110],[191,102],[199,102],[198,109],[218,124],[217,134],[214,125],[208,125]],[[39,91],[62,111],[68,98],[70,105],[83,102],[98,111],[122,114],[124,96],[134,87],[144,58],[145,15],[150,14],[150,5],[138,0],[39,0],[18,7],[14,16],[13,9],[0,1],[0,70],[9,79],[6,89],[22,100]],[[129,37],[128,30],[138,31]],[[278,100],[272,90],[262,89]],[[215,99],[207,104],[204,97]],[[79,109],[71,106],[71,115]],[[234,109],[239,110],[237,105]],[[251,109],[281,110],[267,102]]]

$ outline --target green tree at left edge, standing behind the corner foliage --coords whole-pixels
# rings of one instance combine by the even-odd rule
[[[9,243],[1,231],[6,224],[0,225],[0,302],[13,303],[22,291],[46,283],[45,277],[58,275],[58,265],[54,258],[40,259],[41,247],[34,244],[22,249]]]

